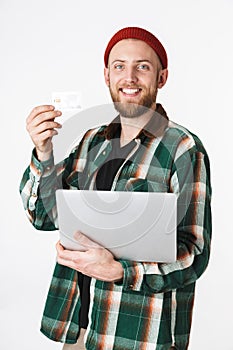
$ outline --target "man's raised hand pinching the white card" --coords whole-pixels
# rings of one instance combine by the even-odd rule
[[[40,161],[49,159],[52,153],[52,138],[57,135],[57,128],[62,125],[55,121],[61,116],[52,105],[42,105],[33,108],[26,120],[26,128],[36,147],[37,157]]]

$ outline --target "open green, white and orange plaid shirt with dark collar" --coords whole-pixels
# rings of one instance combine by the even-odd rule
[[[164,116],[163,122],[155,117],[149,131],[139,133],[137,145],[117,172],[112,190],[177,194],[177,261],[119,260],[124,269],[121,282],[91,280],[86,332],[89,350],[188,347],[195,282],[205,271],[210,254],[209,159],[196,135],[169,121],[161,105],[156,111]],[[119,117],[116,120],[119,122]],[[20,193],[36,229],[58,229],[57,188],[94,188],[98,168],[111,151],[114,122],[87,131],[69,157],[57,165],[53,158],[39,162],[32,155]],[[77,271],[56,264],[41,324],[43,334],[55,341],[77,341],[77,276]]]

